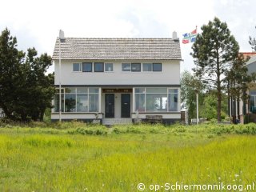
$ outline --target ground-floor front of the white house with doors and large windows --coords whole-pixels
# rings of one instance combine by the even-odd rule
[[[59,91],[53,101],[53,121],[59,119]],[[175,87],[65,87],[62,88],[61,118],[102,124],[146,122],[149,116],[161,116],[161,122],[180,121],[179,89]],[[97,121],[98,122],[98,121]]]

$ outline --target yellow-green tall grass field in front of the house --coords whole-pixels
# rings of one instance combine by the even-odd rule
[[[254,191],[254,134],[254,124],[5,125],[0,191]],[[222,184],[233,188],[181,188]]]

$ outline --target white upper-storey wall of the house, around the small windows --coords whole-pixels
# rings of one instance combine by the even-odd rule
[[[179,85],[179,61],[132,61],[140,63],[161,62],[162,72],[123,72],[127,61],[97,61],[114,63],[114,72],[73,72],[73,63],[94,62],[62,60],[62,85]],[[54,61],[55,85],[58,85],[58,60]],[[142,67],[142,66],[141,66]]]

